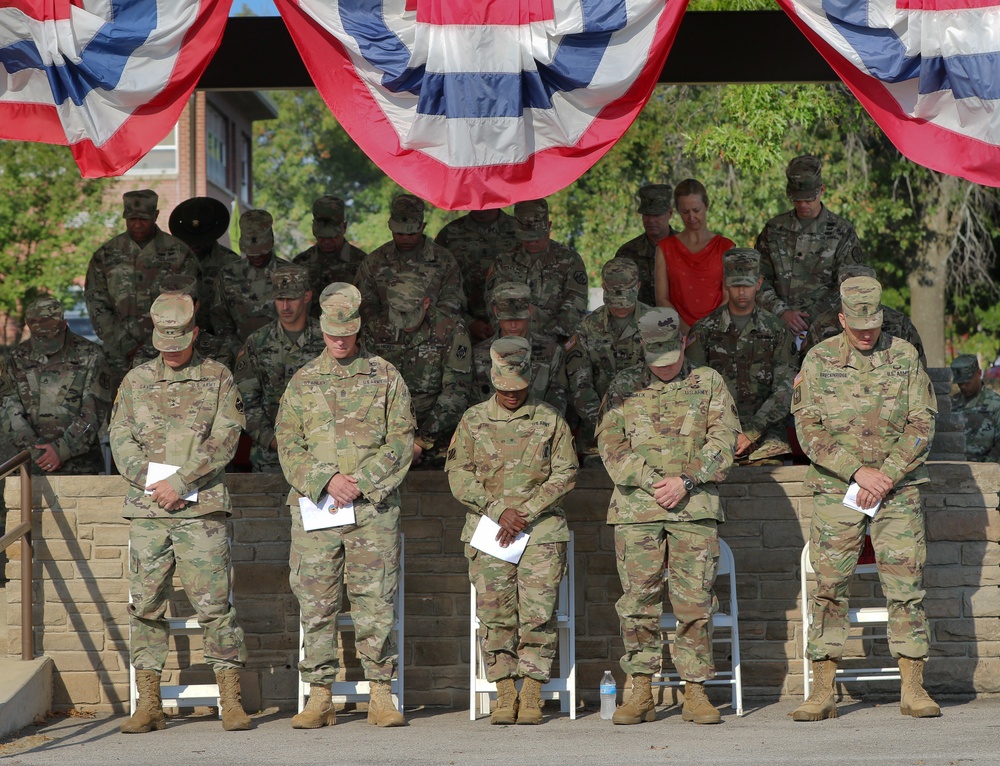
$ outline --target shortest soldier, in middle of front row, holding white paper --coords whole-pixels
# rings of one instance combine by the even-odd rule
[[[559,640],[555,609],[569,540],[559,501],[576,485],[576,453],[566,421],[531,396],[531,344],[501,338],[490,353],[496,393],[462,416],[445,470],[452,494],[469,509],[462,541],[476,586],[486,678],[497,685],[490,723],[539,724],[542,684],[551,677]],[[529,536],[519,561],[469,544],[484,516],[500,525],[503,547],[522,532]]]

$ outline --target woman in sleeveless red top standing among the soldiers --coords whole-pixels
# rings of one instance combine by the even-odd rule
[[[734,244],[708,230],[708,192],[700,181],[677,184],[674,209],[684,228],[656,247],[656,305],[673,307],[686,330],[726,302],[722,254]]]

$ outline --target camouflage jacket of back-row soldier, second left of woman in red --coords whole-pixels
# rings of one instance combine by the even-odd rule
[[[550,241],[541,255],[529,255],[518,244],[497,256],[486,278],[487,301],[503,282],[520,282],[531,289],[531,331],[563,342],[576,332],[587,314],[587,270],[575,250]]]

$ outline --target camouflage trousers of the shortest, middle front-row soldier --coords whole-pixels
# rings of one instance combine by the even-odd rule
[[[517,564],[465,546],[476,586],[486,680],[534,678],[546,683],[559,631],[556,601],[566,572],[566,543],[528,545]]]

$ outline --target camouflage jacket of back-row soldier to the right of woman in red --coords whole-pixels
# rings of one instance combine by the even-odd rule
[[[812,320],[839,305],[837,272],[864,258],[854,227],[826,206],[805,222],[794,210],[772,218],[754,247],[764,277],[757,305],[777,317],[795,309]]]

